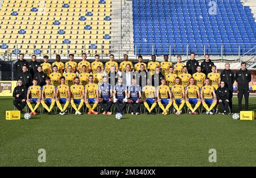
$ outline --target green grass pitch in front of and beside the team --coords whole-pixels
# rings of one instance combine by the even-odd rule
[[[250,98],[254,111],[255,103]],[[0,166],[256,166],[255,121],[187,114],[6,121],[12,99],[0,98],[0,107]],[[38,162],[39,149],[46,163]],[[209,163],[209,149],[216,149],[217,163]]]

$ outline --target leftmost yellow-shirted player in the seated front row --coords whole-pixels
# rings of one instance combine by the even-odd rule
[[[30,115],[36,115],[35,111],[41,103],[42,88],[38,86],[38,80],[33,79],[32,83],[33,85],[27,89],[27,105],[31,110]],[[31,103],[35,104],[34,108]]]

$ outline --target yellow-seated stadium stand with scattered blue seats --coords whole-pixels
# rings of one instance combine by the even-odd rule
[[[110,0],[3,0],[0,54],[109,54],[111,7]]]

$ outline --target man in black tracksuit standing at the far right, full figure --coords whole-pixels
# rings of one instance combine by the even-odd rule
[[[238,97],[238,112],[242,110],[242,98],[245,96],[245,110],[248,110],[249,105],[249,82],[251,81],[251,74],[246,69],[246,63],[241,63],[241,69],[235,75],[237,82],[237,97]]]

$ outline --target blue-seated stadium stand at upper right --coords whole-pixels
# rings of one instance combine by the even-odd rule
[[[133,0],[134,54],[202,55],[205,49],[235,56],[253,48],[256,24],[250,7],[240,0],[214,2]],[[252,53],[255,48],[246,54]]]

